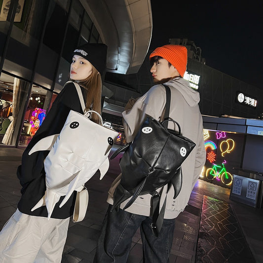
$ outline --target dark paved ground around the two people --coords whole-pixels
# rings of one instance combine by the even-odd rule
[[[16,178],[16,168],[20,164],[21,149],[0,148],[0,229],[16,210],[20,198],[20,185]],[[96,241],[100,227],[108,208],[107,191],[118,174],[118,160],[111,163],[109,172],[99,180],[96,174],[86,184],[89,190],[89,205],[86,217],[82,222],[70,223],[68,237],[64,248],[62,263],[91,263],[96,250]],[[189,205],[176,220],[170,263],[198,262],[196,251],[199,226],[202,216],[204,196],[209,196],[230,204],[244,242],[248,243],[255,262],[263,262],[263,209],[235,203],[229,200],[229,189],[198,180],[191,194]],[[203,225],[203,223],[202,223]],[[199,240],[198,240],[199,235]],[[229,240],[230,241],[230,240]],[[248,252],[249,253],[249,252]],[[141,263],[142,242],[139,231],[133,237],[133,242],[127,263]],[[200,262],[200,261],[199,261]],[[214,261],[221,263],[219,261]],[[238,262],[238,261],[227,261]],[[248,262],[250,263],[250,262]]]

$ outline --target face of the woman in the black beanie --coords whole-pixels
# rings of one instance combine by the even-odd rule
[[[87,78],[91,73],[91,63],[78,55],[74,55],[71,63],[70,78],[73,80],[82,80]]]

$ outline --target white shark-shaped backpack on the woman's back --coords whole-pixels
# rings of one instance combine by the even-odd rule
[[[73,83],[84,112],[85,104],[80,87]],[[87,117],[90,113],[100,116],[101,125]],[[29,155],[38,150],[50,150],[44,160],[45,195],[32,208],[32,211],[45,205],[49,219],[61,196],[65,195],[65,198],[60,207],[67,202],[74,190],[81,191],[83,185],[98,169],[101,174],[100,180],[103,178],[109,169],[108,155],[117,139],[118,132],[102,124],[101,115],[95,111],[88,111],[84,115],[70,111],[60,134],[41,139],[30,150]]]

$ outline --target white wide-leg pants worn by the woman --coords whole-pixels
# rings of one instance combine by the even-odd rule
[[[47,220],[18,209],[0,232],[0,263],[59,263],[70,218]]]

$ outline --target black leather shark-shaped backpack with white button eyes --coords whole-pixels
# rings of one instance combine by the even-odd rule
[[[145,127],[150,127],[152,131],[143,132]],[[135,200],[138,195],[152,193],[171,182],[175,198],[182,186],[182,175],[178,169],[194,146],[188,138],[165,129],[157,120],[147,117],[120,160],[122,176],[114,192],[112,209],[120,204],[120,199],[124,201],[118,188],[124,188]],[[185,156],[180,153],[181,149],[186,150]],[[181,178],[177,178],[178,175]],[[129,202],[125,209],[131,204]]]

